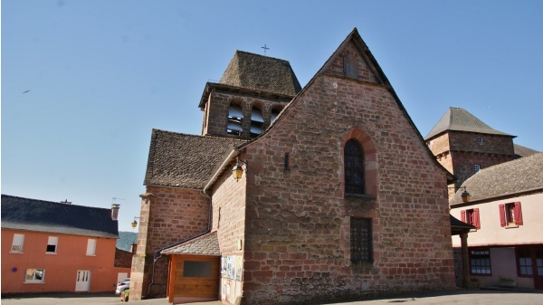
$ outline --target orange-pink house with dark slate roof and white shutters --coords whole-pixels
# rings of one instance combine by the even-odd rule
[[[115,291],[118,212],[2,195],[2,293]]]

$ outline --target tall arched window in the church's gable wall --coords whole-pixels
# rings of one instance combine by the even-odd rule
[[[364,151],[356,139],[345,143],[345,193],[364,194]]]

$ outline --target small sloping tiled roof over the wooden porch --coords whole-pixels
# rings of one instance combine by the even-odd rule
[[[162,251],[164,254],[191,254],[221,256],[217,232],[212,232],[186,243],[177,244]]]

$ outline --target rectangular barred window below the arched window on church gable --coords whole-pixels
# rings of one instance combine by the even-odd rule
[[[351,218],[350,245],[352,262],[372,260],[371,219]]]

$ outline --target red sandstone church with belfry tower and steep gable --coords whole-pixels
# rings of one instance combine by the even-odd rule
[[[455,288],[447,186],[355,28],[303,88],[236,51],[201,135],[153,129],[130,299],[300,304]]]

